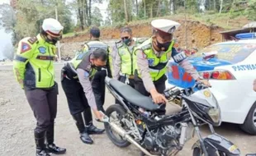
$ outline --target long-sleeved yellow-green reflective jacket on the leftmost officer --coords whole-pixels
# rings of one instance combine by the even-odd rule
[[[55,85],[55,52],[55,45],[45,42],[40,34],[21,39],[13,71],[22,88],[24,85],[30,89]]]

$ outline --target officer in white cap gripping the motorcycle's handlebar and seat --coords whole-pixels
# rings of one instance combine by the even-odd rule
[[[187,56],[178,48],[173,39],[173,32],[180,24],[176,21],[159,19],[151,22],[153,36],[140,44],[135,50],[137,67],[135,70],[135,89],[141,94],[151,95],[154,103],[166,103],[163,93],[165,89],[165,75],[169,57],[173,57],[195,80],[200,80],[205,85],[210,85],[207,80],[201,80],[192,64],[187,61]],[[162,105],[165,113],[165,105]]]

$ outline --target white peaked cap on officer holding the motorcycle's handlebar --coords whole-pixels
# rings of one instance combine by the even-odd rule
[[[181,25],[176,21],[171,21],[167,19],[158,19],[151,21],[151,25],[154,27],[155,30],[160,30],[167,34],[173,34],[175,30]]]

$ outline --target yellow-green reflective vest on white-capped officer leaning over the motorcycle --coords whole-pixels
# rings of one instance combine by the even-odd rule
[[[153,81],[159,80],[167,71],[167,64],[168,64],[168,56],[172,53],[174,40],[168,47],[168,50],[162,54],[161,57],[157,57],[154,54],[154,49],[152,47],[152,38],[147,39],[143,44],[140,44],[138,47],[135,48],[135,51],[140,49],[143,50],[145,53],[147,60],[149,62],[149,74]],[[136,60],[136,54],[134,54],[134,60]],[[135,69],[138,71],[139,77],[140,70],[139,67],[136,65]]]

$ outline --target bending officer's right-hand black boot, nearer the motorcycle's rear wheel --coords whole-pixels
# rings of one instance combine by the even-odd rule
[[[102,134],[105,131],[104,129],[99,129],[99,128],[97,128],[96,126],[94,126],[92,124],[92,112],[91,112],[91,109],[86,109],[83,112],[83,117],[84,117],[85,124],[86,124],[85,127],[86,127],[89,135],[92,135],[92,134]]]

